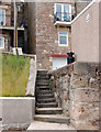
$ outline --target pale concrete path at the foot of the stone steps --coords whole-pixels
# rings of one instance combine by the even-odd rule
[[[76,130],[67,124],[33,121],[27,130]]]

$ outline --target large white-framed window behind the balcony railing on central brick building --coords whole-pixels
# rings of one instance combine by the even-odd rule
[[[55,3],[56,21],[71,21],[71,4]]]

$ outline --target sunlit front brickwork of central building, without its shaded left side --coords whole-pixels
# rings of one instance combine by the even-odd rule
[[[58,31],[68,31],[69,46],[58,46]],[[70,28],[54,25],[54,3],[42,2],[36,4],[36,56],[37,68],[52,69],[52,54],[67,54],[70,50]]]

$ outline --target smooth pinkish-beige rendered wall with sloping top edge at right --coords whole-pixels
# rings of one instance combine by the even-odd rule
[[[78,62],[99,62],[99,2],[71,24],[71,48]]]

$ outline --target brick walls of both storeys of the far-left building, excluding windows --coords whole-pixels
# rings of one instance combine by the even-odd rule
[[[22,19],[24,16],[25,19],[25,28],[27,28],[27,3],[21,3],[21,2],[18,2],[16,3],[16,7],[20,6],[20,11],[18,11],[18,26],[20,28],[21,26],[21,22],[22,22]],[[14,2],[2,2],[1,6],[0,6],[0,9],[5,9],[5,26],[9,26],[9,28],[14,28]],[[1,35],[4,37],[4,41],[5,41],[5,47],[4,47],[4,51],[8,51],[8,45],[10,42],[10,45],[13,46],[13,33],[14,32],[14,29],[11,30],[11,29],[3,29],[1,31]],[[18,38],[19,38],[19,46],[22,46],[23,51],[27,51],[25,48],[25,46],[27,46],[25,42],[27,42],[27,35],[25,34],[23,36],[24,33],[26,33],[26,29],[25,29],[25,32],[22,33],[23,31],[19,31],[18,32]],[[22,34],[22,35],[21,35]],[[24,40],[23,40],[24,37]],[[9,40],[9,41],[8,41]],[[25,44],[25,45],[24,45]]]

